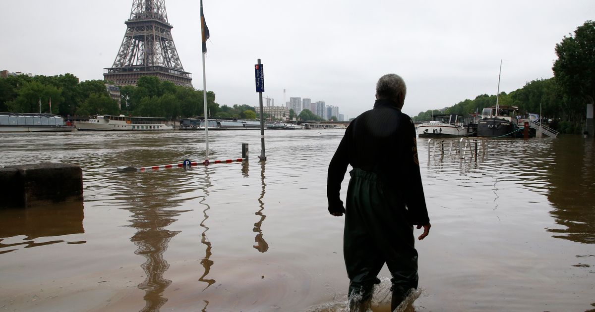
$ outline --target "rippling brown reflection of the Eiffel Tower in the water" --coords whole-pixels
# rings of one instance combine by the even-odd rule
[[[167,302],[163,292],[171,284],[170,280],[163,278],[163,274],[170,267],[163,254],[170,239],[180,232],[166,228],[177,220],[174,217],[185,211],[167,209],[173,206],[171,199],[176,194],[175,187],[169,185],[167,180],[155,179],[151,173],[136,172],[121,177],[136,178],[136,183],[143,185],[134,188],[137,193],[130,194],[128,198],[131,207],[127,210],[133,213],[131,225],[128,226],[137,230],[130,238],[138,247],[134,253],[146,259],[141,265],[146,278],[138,285],[139,289],[145,291],[145,307],[141,311],[158,311]]]

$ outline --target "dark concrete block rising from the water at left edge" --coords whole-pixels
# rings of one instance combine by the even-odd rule
[[[83,200],[83,171],[67,163],[6,166],[17,169],[17,196],[24,207]]]

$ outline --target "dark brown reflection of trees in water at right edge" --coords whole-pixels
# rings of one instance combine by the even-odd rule
[[[595,244],[595,147],[593,140],[573,135],[553,144],[548,196],[550,214],[565,229],[548,229],[557,238]]]

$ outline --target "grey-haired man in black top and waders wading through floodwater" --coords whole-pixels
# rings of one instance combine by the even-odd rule
[[[392,275],[391,310],[417,289],[413,225],[430,232],[419,174],[415,126],[401,112],[405,82],[387,74],[376,84],[374,109],[353,119],[328,166],[328,211],[345,213],[343,256],[349,276],[349,310],[370,308],[384,263]],[[347,165],[346,209],[339,198]]]

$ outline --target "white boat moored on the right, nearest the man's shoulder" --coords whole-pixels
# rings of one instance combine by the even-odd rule
[[[418,125],[417,133],[419,137],[464,137],[472,134],[472,128],[461,115],[438,115]]]

